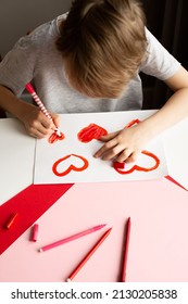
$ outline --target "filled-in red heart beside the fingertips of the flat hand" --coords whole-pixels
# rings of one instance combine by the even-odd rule
[[[104,128],[96,124],[90,124],[78,132],[77,138],[82,142],[89,142],[92,139],[100,139],[101,136],[104,135],[108,135],[108,131]]]

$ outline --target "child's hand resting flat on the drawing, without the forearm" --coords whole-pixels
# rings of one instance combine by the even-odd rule
[[[143,125],[140,123],[130,128],[102,136],[100,140],[105,143],[93,156],[103,161],[113,160],[118,163],[135,162],[150,140],[149,130]]]

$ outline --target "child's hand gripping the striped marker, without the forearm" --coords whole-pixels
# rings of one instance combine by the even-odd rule
[[[58,114],[50,113],[50,115],[53,122],[38,106],[24,102],[18,118],[23,122],[28,135],[35,138],[43,138],[50,136],[60,124]]]

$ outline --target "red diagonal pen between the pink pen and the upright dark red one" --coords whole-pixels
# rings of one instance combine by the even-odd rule
[[[91,257],[91,255],[97,251],[97,249],[103,243],[106,237],[110,235],[112,228],[106,230],[104,235],[99,239],[99,241],[92,246],[92,249],[86,254],[86,256],[82,259],[82,262],[76,266],[76,268],[72,271],[72,274],[66,279],[67,282],[71,282],[77,273],[83,268],[86,262]]]

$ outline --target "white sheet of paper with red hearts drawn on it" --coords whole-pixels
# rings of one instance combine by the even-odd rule
[[[160,137],[146,147],[147,153],[140,153],[136,163],[125,164],[125,169],[120,172],[113,168],[112,161],[93,157],[95,152],[103,144],[93,138],[96,125],[100,136],[105,130],[113,132],[123,129],[133,119],[141,121],[151,113],[153,112],[130,111],[61,115],[60,130],[63,132],[63,139],[53,143],[49,143],[47,139],[37,140],[34,183],[142,180],[167,175]],[[156,165],[155,159],[160,161],[159,166],[145,172]]]

